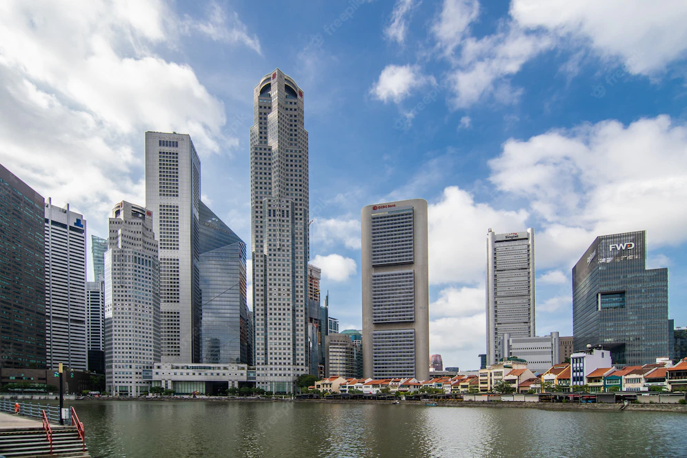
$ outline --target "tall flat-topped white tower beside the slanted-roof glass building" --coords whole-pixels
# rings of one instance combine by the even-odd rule
[[[146,208],[159,242],[162,362],[201,357],[201,164],[188,135],[146,132]]]

